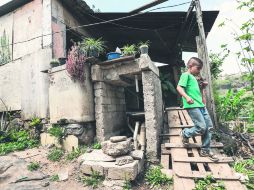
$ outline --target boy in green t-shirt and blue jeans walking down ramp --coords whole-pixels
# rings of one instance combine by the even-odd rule
[[[182,96],[183,106],[188,111],[195,126],[181,131],[182,142],[184,145],[188,145],[189,138],[201,134],[202,148],[200,156],[209,157],[216,162],[219,159],[210,150],[210,130],[213,128],[213,124],[204,104],[204,88],[200,89],[195,78],[200,74],[203,62],[199,58],[192,57],[188,61],[187,67],[188,71],[182,74],[177,91]]]

